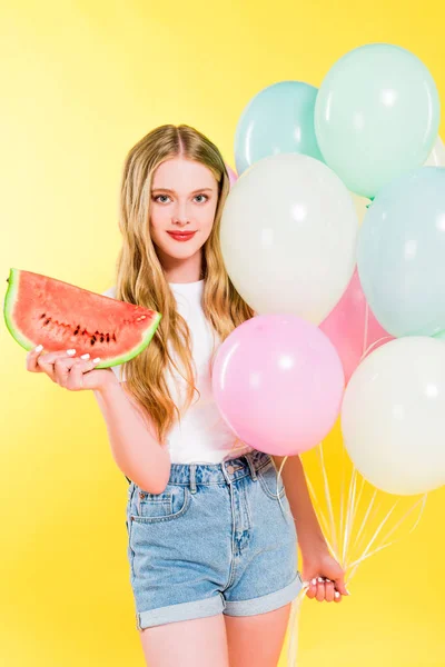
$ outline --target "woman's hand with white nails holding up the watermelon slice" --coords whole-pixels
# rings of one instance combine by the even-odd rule
[[[27,355],[27,370],[30,372],[44,372],[53,382],[69,391],[82,389],[102,390],[107,385],[117,382],[111,368],[95,369],[100,361],[81,359],[68,355],[68,350],[46,352],[34,348]]]

